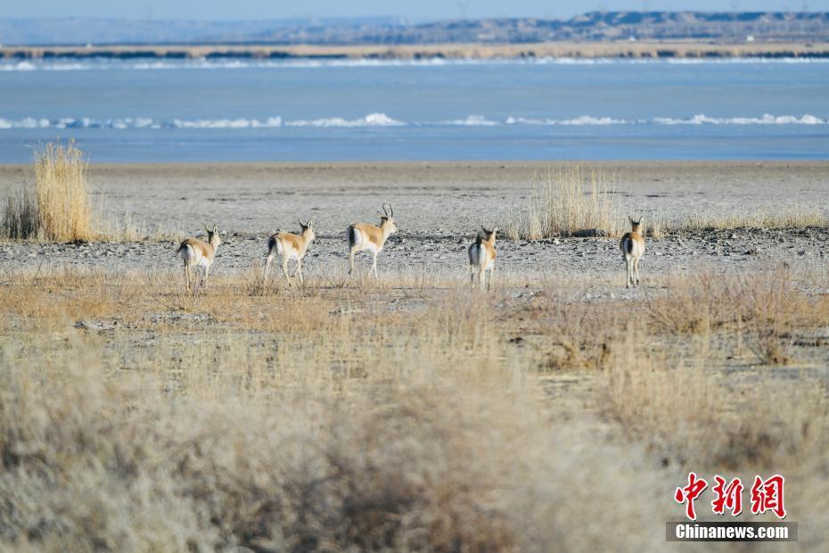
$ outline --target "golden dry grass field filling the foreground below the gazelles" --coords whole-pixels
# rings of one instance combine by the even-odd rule
[[[228,232],[194,293],[174,242],[84,263],[134,245],[3,243],[0,549],[708,550],[665,541],[694,471],[784,475],[796,547],[825,551],[825,223],[791,220],[649,235],[632,290],[615,237],[560,226],[558,246],[499,239],[490,293],[463,231],[406,263],[434,245],[414,221],[379,283],[325,257],[266,281],[264,239]],[[738,240],[787,255],[726,262]]]

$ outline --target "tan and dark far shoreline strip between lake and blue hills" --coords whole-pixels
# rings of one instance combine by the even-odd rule
[[[4,61],[89,59],[518,59],[829,58],[829,43],[546,42],[434,45],[86,45],[4,46]]]

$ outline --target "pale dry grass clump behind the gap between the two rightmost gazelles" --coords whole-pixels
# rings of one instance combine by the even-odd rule
[[[549,169],[536,178],[529,194],[527,219],[511,216],[507,236],[539,240],[581,234],[618,236],[625,218],[611,179],[581,165]]]

